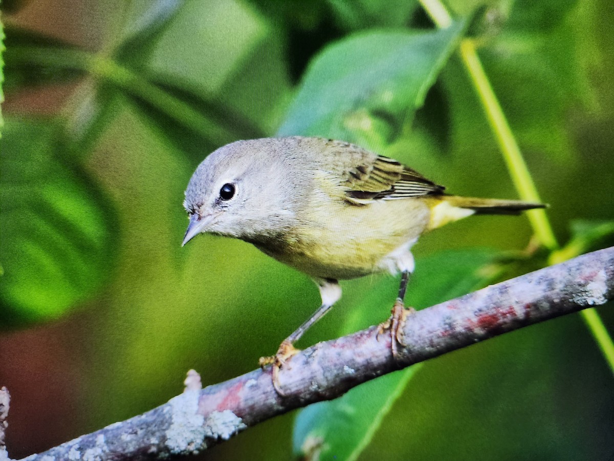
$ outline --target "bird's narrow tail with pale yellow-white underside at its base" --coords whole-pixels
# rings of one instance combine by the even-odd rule
[[[479,199],[477,197],[457,197],[440,195],[430,203],[429,229],[437,229],[444,224],[457,221],[470,215],[519,215],[521,211],[545,208],[543,203],[523,202],[522,200]]]

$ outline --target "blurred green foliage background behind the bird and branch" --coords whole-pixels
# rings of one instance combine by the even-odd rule
[[[459,22],[437,32],[411,0],[2,1],[0,385],[12,457],[165,403],[190,368],[204,385],[250,371],[319,304],[308,277],[247,243],[201,236],[181,248],[185,186],[217,147],[343,138],[454,194],[516,198],[453,53],[463,34],[559,242],[612,243],[612,2],[449,7]],[[531,235],[525,217],[505,216],[426,235],[410,302],[543,266],[544,251],[524,251]],[[384,320],[396,284],[342,283],[298,346]],[[613,332],[611,307],[599,312]],[[405,377],[360,459],[614,459],[614,379],[577,315]],[[296,416],[203,458],[290,459]]]

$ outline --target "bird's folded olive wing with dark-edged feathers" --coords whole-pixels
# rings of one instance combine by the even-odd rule
[[[383,156],[351,168],[345,186],[346,200],[354,205],[366,205],[374,200],[438,195],[445,189],[418,171]]]

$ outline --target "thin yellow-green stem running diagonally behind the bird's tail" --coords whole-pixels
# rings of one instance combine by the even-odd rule
[[[441,0],[420,0],[420,2],[438,28],[446,28],[451,25],[452,17]],[[473,86],[475,87],[476,93],[478,93],[478,97],[486,113],[486,118],[499,144],[503,159],[505,159],[505,163],[510,171],[510,176],[518,191],[518,195],[521,199],[529,202],[541,202],[542,200],[540,200],[537,187],[535,187],[533,178],[529,173],[529,168],[527,168],[523,154],[511,132],[510,125],[505,118],[505,114],[503,114],[497,96],[492,90],[488,76],[486,76],[484,72],[473,39],[468,37],[462,39],[459,53],[467,69],[467,73],[472,80]],[[569,248],[569,251],[558,250],[559,245],[556,242],[556,237],[554,237],[554,232],[550,225],[550,221],[548,221],[545,210],[530,210],[527,211],[527,216],[533,227],[535,236],[551,251],[551,257],[548,260],[549,264],[562,262],[560,259],[563,255],[564,258],[567,259],[580,254],[577,248]],[[597,345],[599,345],[599,349],[603,353],[605,361],[608,363],[608,366],[610,366],[612,373],[614,373],[614,342],[612,341],[612,337],[608,334],[607,329],[605,329],[599,314],[595,309],[585,309],[581,311],[581,316],[597,342]]]

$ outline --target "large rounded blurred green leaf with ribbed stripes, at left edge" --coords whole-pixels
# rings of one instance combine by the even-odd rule
[[[111,271],[111,204],[69,164],[50,120],[7,119],[0,175],[0,323],[56,318],[90,296]]]

